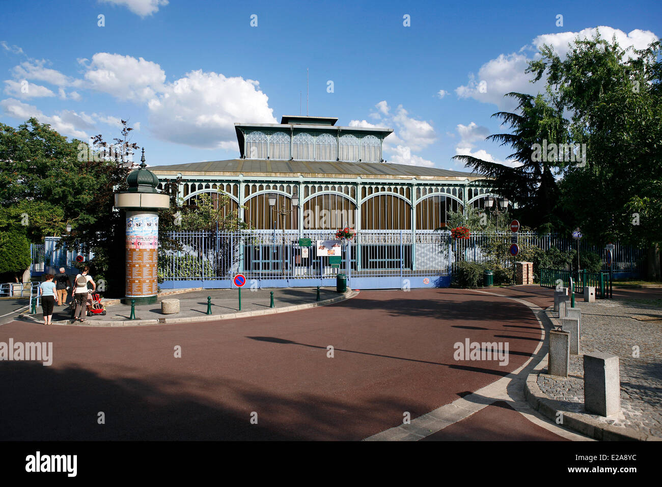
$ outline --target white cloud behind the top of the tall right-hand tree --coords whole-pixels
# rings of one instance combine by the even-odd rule
[[[600,35],[608,41],[615,35],[622,48],[632,46],[641,49],[657,40],[657,36],[649,30],[636,29],[626,34],[622,30],[604,26],[585,28],[579,32],[543,34],[534,38],[531,44],[522,47],[518,52],[500,54],[483,64],[477,76],[469,74],[469,82],[455,88],[455,93],[461,98],[473,98],[484,103],[494,103],[499,109],[511,111],[515,109],[518,102],[515,99],[504,98],[505,93],[515,91],[536,95],[538,92],[544,92],[544,80],[531,83],[532,74],[524,73],[528,63],[540,55],[538,51],[543,44],[553,46],[557,54],[563,58],[569,50],[568,44],[574,42],[577,36],[591,38],[597,30],[600,30]],[[534,54],[532,57],[528,57],[526,52]]]

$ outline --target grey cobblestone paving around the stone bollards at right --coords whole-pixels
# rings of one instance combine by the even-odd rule
[[[584,411],[582,354],[618,355],[621,412],[612,417],[590,415],[598,421],[662,437],[662,309],[625,301],[575,301],[581,309],[580,354],[570,356],[568,378],[540,374],[538,386],[552,399],[565,402],[567,411]],[[558,313],[551,312],[553,318]],[[639,321],[633,317],[658,318]],[[636,355],[638,347],[639,356]],[[589,415],[589,413],[585,413]]]

